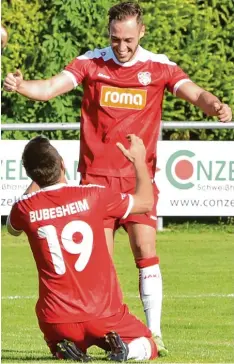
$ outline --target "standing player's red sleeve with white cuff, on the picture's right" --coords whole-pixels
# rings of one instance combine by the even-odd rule
[[[168,65],[168,81],[167,81],[167,89],[173,95],[176,95],[176,91],[178,88],[186,83],[186,82],[192,82],[189,78],[189,76],[176,64],[175,65]]]

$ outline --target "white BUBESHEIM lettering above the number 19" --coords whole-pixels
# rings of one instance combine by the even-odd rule
[[[66,215],[74,215],[77,212],[89,210],[89,205],[86,199],[76,201],[67,205],[52,207],[49,209],[41,209],[29,212],[30,222],[56,219]]]

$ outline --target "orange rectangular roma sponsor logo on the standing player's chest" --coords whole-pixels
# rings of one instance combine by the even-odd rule
[[[147,90],[102,86],[101,106],[142,110],[146,105]]]

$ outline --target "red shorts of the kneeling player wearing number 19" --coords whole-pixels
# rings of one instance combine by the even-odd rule
[[[39,326],[53,355],[57,343],[63,339],[73,341],[79,349],[86,352],[92,345],[108,350],[109,346],[105,342],[104,335],[110,331],[116,331],[126,343],[139,337],[152,337],[148,327],[132,315],[126,305],[122,306],[121,312],[111,317],[65,324],[39,322]],[[152,340],[150,341],[152,345]],[[157,350],[156,346],[152,349],[154,353]]]

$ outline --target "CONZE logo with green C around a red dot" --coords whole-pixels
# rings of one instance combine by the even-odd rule
[[[168,181],[176,188],[187,190],[196,183],[234,181],[233,160],[199,160],[190,150],[178,150],[166,164]]]

